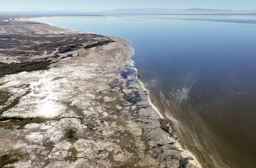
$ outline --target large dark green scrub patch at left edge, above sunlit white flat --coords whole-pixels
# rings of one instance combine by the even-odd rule
[[[49,69],[47,65],[49,65],[51,61],[26,61],[21,63],[5,63],[0,62],[0,78],[9,74],[17,74],[23,71],[31,72],[36,70],[46,70]]]

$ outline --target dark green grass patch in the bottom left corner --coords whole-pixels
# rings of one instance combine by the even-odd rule
[[[5,165],[12,164],[14,162],[19,161],[20,159],[24,158],[25,155],[28,154],[4,154],[0,156],[0,168],[4,167]]]

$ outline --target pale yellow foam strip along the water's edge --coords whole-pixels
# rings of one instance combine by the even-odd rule
[[[137,77],[138,70],[137,70],[135,67],[133,67],[133,66],[134,66],[134,61],[131,59],[131,57],[132,57],[133,55],[134,55],[134,49],[133,49],[133,54],[129,57],[129,59],[130,59],[130,61],[131,61],[131,63],[130,63],[131,68],[136,71],[136,79],[137,79],[137,81],[141,84],[142,89],[147,92],[147,99],[148,99],[149,105],[157,112],[157,114],[159,115],[159,117],[163,119],[163,116],[162,116],[162,114],[160,113],[160,111],[158,110],[158,108],[157,108],[157,107],[151,102],[151,100],[150,100],[150,97],[149,97],[149,90],[147,90],[147,89],[145,88],[144,84],[143,84],[143,83],[138,79],[138,77]],[[168,125],[168,126],[169,126],[169,125]],[[169,126],[169,127],[170,127],[170,126]],[[165,133],[168,135],[168,139],[169,139],[171,142],[174,142],[174,145],[176,146],[176,148],[178,148],[178,150],[182,151],[182,156],[183,156],[184,158],[186,158],[186,157],[192,157],[192,158],[193,158],[193,160],[190,160],[190,159],[189,159],[189,163],[191,163],[192,165],[197,166],[197,167],[199,167],[199,168],[202,168],[202,166],[199,164],[199,162],[198,162],[198,160],[196,159],[196,157],[195,157],[191,152],[182,149],[182,147],[181,147],[181,145],[180,145],[179,142],[177,142],[177,141],[175,141],[173,138],[171,138],[171,135],[170,135],[169,133],[167,133],[167,132],[165,132]]]

